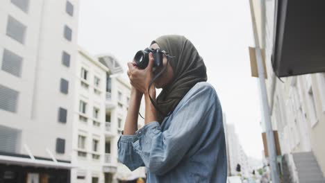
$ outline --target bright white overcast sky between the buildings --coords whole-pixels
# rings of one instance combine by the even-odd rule
[[[258,82],[251,77],[249,0],[82,0],[78,44],[114,55],[124,66],[160,35],[184,35],[196,46],[226,114],[249,157],[262,158]],[[126,78],[126,73],[125,73]]]

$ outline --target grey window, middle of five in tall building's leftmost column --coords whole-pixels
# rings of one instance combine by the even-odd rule
[[[22,75],[22,57],[4,49],[1,69],[20,77]]]

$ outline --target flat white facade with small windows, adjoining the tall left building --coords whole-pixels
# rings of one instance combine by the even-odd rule
[[[78,48],[71,182],[104,182],[106,72],[99,60]]]

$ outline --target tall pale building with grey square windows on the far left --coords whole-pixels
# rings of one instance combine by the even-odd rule
[[[78,0],[1,1],[0,17],[0,182],[69,182]]]

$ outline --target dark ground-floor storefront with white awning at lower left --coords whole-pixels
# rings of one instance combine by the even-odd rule
[[[69,183],[71,168],[70,162],[57,159],[0,155],[0,182]]]

